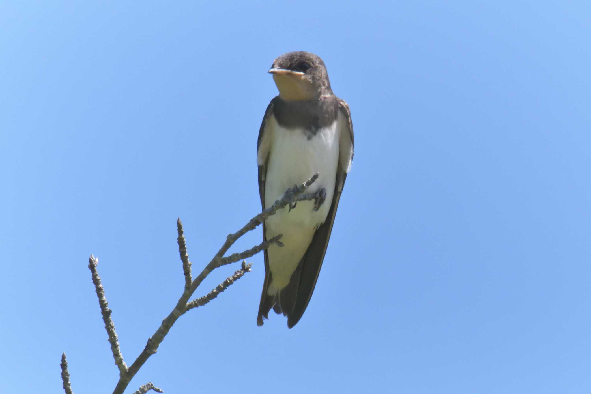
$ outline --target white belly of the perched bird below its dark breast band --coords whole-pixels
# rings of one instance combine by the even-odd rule
[[[276,122],[275,119],[269,119]],[[268,249],[269,268],[273,282],[269,294],[284,288],[306,253],[314,232],[324,223],[335,193],[337,163],[339,161],[339,130],[337,122],[320,129],[310,139],[301,129],[284,129],[278,124],[269,149],[265,178],[265,207],[281,198],[287,188],[304,183],[316,172],[319,177],[306,193],[320,188],[326,190],[326,200],[318,211],[314,201],[300,201],[295,209],[288,207],[267,219],[267,239],[282,234],[282,248]]]

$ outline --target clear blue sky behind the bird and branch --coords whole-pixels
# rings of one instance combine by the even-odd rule
[[[90,253],[131,363],[183,286],[177,217],[197,269],[258,212],[266,71],[307,50],[356,149],[306,314],[256,327],[255,256],[129,392],[591,392],[591,6],[443,3],[0,3],[2,390],[62,392],[66,351],[111,392]]]

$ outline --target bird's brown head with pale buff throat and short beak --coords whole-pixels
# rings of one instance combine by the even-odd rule
[[[313,53],[288,52],[273,61],[269,74],[285,101],[319,99],[332,93],[324,62]]]

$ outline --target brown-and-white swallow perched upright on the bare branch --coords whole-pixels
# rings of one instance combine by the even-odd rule
[[[281,243],[265,250],[265,282],[256,324],[273,308],[287,316],[287,327],[306,311],[322,267],[340,194],[353,160],[353,123],[349,106],[330,88],[322,59],[298,51],[275,59],[268,71],[279,90],[259,129],[258,183],[262,209],[287,188],[318,172],[300,201],[263,223],[266,241],[282,234]]]

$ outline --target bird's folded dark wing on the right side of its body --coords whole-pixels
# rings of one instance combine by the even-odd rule
[[[340,143],[343,144],[343,141],[347,141],[347,138],[349,138],[350,151],[347,153],[347,149],[340,150],[335,194],[333,195],[329,213],[324,223],[318,228],[318,230],[316,230],[316,233],[314,233],[312,242],[310,243],[308,250],[306,250],[306,254],[298,266],[298,268],[301,268],[300,282],[297,289],[296,303],[293,307],[293,310],[290,311],[287,317],[287,327],[289,328],[294,327],[294,325],[300,321],[300,318],[308,307],[312,293],[314,292],[314,287],[316,286],[316,281],[318,280],[320,268],[322,268],[322,262],[324,261],[324,254],[326,253],[326,248],[329,245],[332,226],[333,223],[335,223],[336,210],[339,207],[340,194],[343,191],[345,179],[347,178],[349,162],[353,159],[353,122],[351,121],[351,112],[349,110],[349,106],[344,100],[339,99],[339,111],[341,115],[345,117],[346,121],[346,129],[341,130],[342,136]],[[343,133],[346,132],[348,132],[348,134],[343,135]]]

